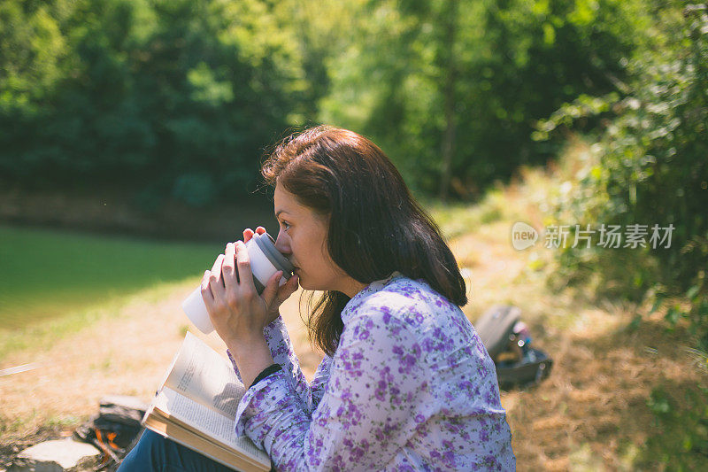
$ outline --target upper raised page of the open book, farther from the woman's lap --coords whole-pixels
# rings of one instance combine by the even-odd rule
[[[189,331],[164,384],[232,421],[246,392],[231,362]]]

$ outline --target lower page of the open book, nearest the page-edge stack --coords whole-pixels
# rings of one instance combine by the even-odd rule
[[[268,460],[267,454],[258,449],[248,437],[236,436],[233,418],[200,405],[178,391],[164,388],[152,404],[169,418],[202,432],[206,437],[212,437],[223,445],[246,453],[256,460]]]

